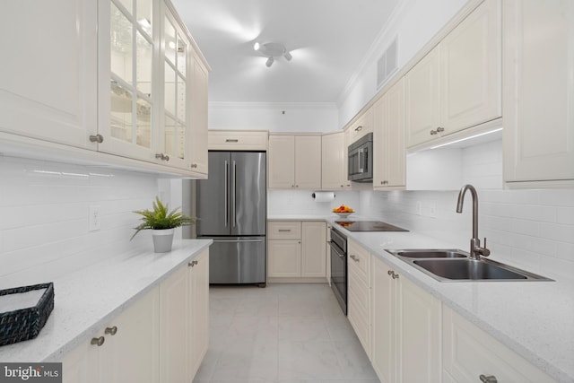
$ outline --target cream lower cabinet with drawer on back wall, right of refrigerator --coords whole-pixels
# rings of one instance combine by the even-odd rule
[[[269,221],[267,276],[326,277],[326,223]]]

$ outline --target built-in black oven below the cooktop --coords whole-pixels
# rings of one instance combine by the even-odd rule
[[[331,229],[331,289],[347,315],[347,238]]]

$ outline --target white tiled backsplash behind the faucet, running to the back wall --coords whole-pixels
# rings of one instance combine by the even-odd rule
[[[479,236],[487,237],[491,257],[546,276],[574,279],[574,190],[503,189],[500,141],[460,151],[460,187],[470,183],[478,189]],[[457,248],[469,247],[473,206],[469,193],[461,214],[456,213],[458,190],[335,193],[333,203],[317,204],[307,191],[272,190],[269,212],[328,215],[344,203],[363,217],[395,223]]]

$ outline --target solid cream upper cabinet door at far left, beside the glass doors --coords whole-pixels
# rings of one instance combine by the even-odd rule
[[[96,149],[97,2],[9,1],[0,12],[0,131]]]

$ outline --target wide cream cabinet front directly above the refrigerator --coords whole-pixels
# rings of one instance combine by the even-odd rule
[[[210,130],[208,148],[211,150],[267,150],[266,131]]]

